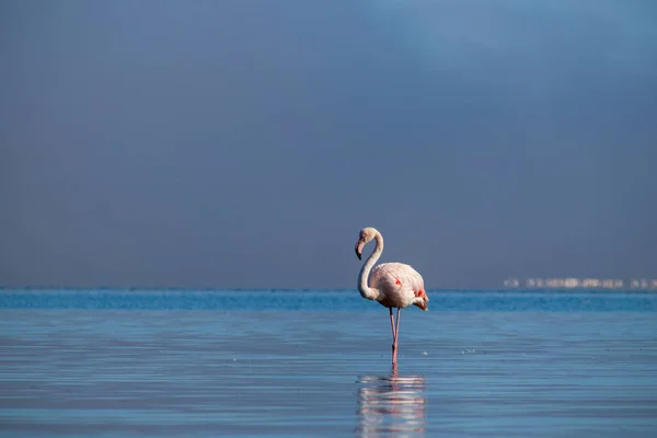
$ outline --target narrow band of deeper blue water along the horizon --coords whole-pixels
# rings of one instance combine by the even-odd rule
[[[657,312],[657,293],[433,291],[431,311]],[[0,309],[381,312],[354,290],[0,290]]]

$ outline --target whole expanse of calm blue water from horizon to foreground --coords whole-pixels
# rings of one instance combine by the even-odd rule
[[[0,291],[0,436],[654,437],[657,295]]]

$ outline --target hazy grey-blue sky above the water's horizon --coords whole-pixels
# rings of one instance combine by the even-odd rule
[[[657,2],[4,0],[0,206],[2,285],[657,277]]]

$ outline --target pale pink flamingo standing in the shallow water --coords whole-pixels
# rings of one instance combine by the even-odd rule
[[[362,247],[374,240],[377,246],[367,258],[358,274],[358,291],[368,300],[376,300],[388,308],[390,325],[392,326],[392,364],[396,364],[397,339],[400,332],[400,311],[408,306],[417,306],[427,310],[429,297],[424,290],[422,275],[404,263],[382,263],[372,269],[374,263],[383,252],[383,237],[372,227],[360,230],[356,242],[356,255],[361,260]],[[369,285],[368,285],[369,278]],[[392,315],[392,308],[396,308],[396,322]]]

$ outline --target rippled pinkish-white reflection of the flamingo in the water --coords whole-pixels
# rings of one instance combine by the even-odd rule
[[[357,383],[359,437],[424,436],[423,377],[400,377],[395,365],[390,377],[362,376]]]

